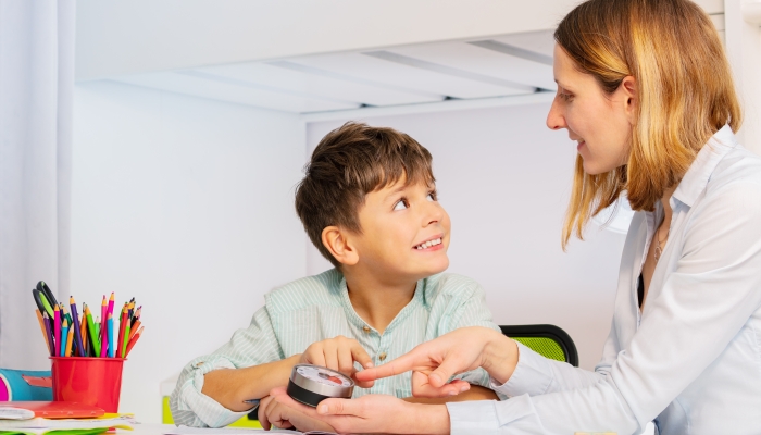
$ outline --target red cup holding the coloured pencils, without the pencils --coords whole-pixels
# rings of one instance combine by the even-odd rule
[[[50,357],[53,400],[76,401],[118,412],[124,358]]]

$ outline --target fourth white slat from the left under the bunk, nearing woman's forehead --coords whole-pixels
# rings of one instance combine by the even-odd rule
[[[524,86],[556,89],[552,66],[467,42],[428,44],[388,51]]]

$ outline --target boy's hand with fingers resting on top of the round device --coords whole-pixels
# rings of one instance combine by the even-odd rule
[[[301,353],[299,363],[326,366],[351,376],[359,387],[372,387],[375,381],[357,381],[354,376],[357,373],[354,361],[359,362],[364,369],[373,366],[373,360],[359,341],[339,335],[336,338],[313,343]]]

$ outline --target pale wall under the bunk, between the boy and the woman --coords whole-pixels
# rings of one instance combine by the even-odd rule
[[[545,126],[549,103],[365,119],[408,133],[434,157],[452,219],[449,271],[487,291],[498,324],[550,323],[592,369],[610,330],[624,235],[590,227],[560,248],[575,145]],[[347,120],[308,125],[309,152]],[[307,272],[329,266],[313,247]]]

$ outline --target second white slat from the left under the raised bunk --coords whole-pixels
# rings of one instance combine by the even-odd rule
[[[283,91],[301,92],[315,98],[366,105],[397,105],[439,101],[444,97],[417,89],[400,89],[353,77],[348,72],[332,72],[291,61],[240,63],[209,66],[196,71],[236,82],[269,86]]]

